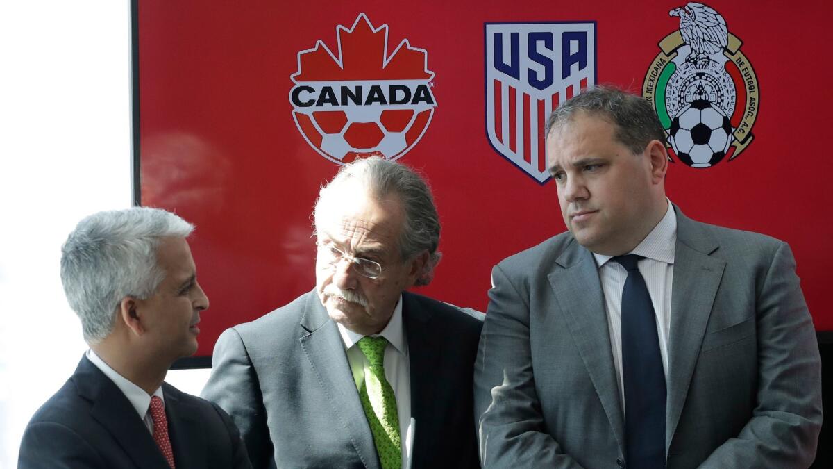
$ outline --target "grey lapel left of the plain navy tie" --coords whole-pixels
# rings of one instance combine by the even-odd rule
[[[624,448],[625,426],[619,402],[619,385],[613,367],[611,337],[596,261],[590,251],[573,240],[556,264],[555,270],[547,275],[552,292],[576,341],[616,441]]]

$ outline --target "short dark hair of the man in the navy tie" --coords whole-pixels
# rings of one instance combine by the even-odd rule
[[[651,140],[666,144],[666,131],[645,98],[618,88],[596,86],[566,100],[546,119],[546,134],[568,122],[576,111],[599,116],[616,125],[616,139],[631,153],[641,153]]]

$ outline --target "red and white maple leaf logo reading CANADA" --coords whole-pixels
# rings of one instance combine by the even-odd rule
[[[337,54],[321,40],[298,53],[289,92],[298,130],[338,164],[402,157],[425,134],[436,108],[428,53],[404,39],[388,55],[387,24],[374,28],[364,13],[336,33]]]

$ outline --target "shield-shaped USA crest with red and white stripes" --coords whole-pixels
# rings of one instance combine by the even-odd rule
[[[543,184],[544,125],[558,104],[596,84],[596,22],[486,23],[486,135]]]

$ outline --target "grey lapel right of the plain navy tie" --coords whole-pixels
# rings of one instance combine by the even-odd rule
[[[666,412],[666,448],[680,421],[688,387],[711,306],[721,284],[726,261],[711,257],[716,239],[702,224],[686,218],[676,206],[677,242],[674,280],[671,285],[671,331],[669,333],[669,391]]]

